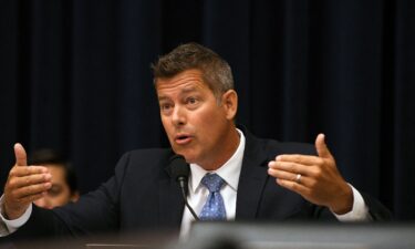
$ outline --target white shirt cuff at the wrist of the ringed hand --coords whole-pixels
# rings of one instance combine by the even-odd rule
[[[349,186],[352,188],[353,191],[353,208],[351,211],[344,215],[333,215],[342,222],[350,222],[350,221],[370,221],[372,220],[371,215],[369,214],[369,208],[364,203],[362,195],[351,185]]]

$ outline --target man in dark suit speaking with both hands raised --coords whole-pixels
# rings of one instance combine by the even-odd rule
[[[186,235],[195,217],[173,177],[169,158],[175,154],[189,164],[187,200],[204,220],[388,218],[382,205],[342,178],[323,134],[312,146],[260,139],[237,127],[231,71],[215,52],[184,44],[159,58],[153,71],[172,148],[125,154],[115,175],[97,190],[51,211],[31,205],[51,187],[48,169],[27,167],[24,148],[17,144],[17,163],[1,200],[0,234],[173,228]]]

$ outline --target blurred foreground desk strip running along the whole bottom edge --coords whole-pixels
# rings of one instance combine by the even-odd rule
[[[0,245],[0,248],[1,247]],[[7,247],[12,248],[12,247]],[[173,234],[104,235],[28,241],[17,248],[84,249],[413,249],[415,224],[239,224],[197,222],[189,239]]]

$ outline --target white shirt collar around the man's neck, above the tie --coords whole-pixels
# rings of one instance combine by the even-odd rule
[[[243,133],[238,128],[237,131],[239,133],[238,148],[234,153],[234,155],[218,169],[208,172],[197,164],[190,164],[190,190],[193,190],[194,193],[197,190],[200,185],[201,178],[204,178],[207,173],[216,173],[227,183],[227,185],[229,185],[235,191],[237,191],[245,151]]]

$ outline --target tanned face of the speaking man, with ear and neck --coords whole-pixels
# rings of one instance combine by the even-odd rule
[[[220,166],[232,155],[239,143],[232,122],[235,91],[224,93],[218,103],[199,70],[157,79],[156,90],[163,126],[176,154],[206,169]]]

